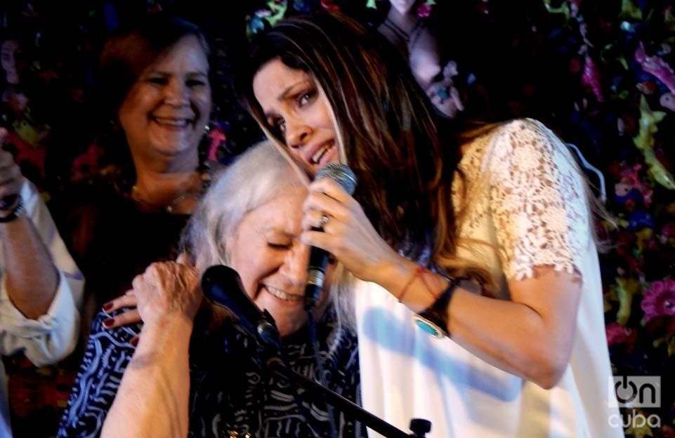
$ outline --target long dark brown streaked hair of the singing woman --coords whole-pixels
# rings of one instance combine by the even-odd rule
[[[431,262],[447,274],[488,283],[485,270],[456,255],[459,142],[395,48],[358,22],[327,13],[289,18],[262,34],[236,88],[263,129],[283,142],[252,86],[258,69],[275,58],[308,72],[325,94],[341,152],[358,176],[354,196],[381,236],[409,258],[431,251]]]

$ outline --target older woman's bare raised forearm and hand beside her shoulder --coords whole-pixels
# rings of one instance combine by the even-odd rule
[[[192,265],[152,263],[132,281],[129,295],[143,330],[105,418],[101,437],[166,437],[188,434],[188,349],[202,291]],[[167,394],[168,397],[167,397]],[[140,409],[139,404],[151,406]],[[157,415],[157,413],[164,415]],[[133,424],[129,424],[133,418]]]

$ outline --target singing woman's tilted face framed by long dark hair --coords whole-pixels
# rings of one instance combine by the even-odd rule
[[[339,161],[329,104],[309,74],[275,58],[258,69],[253,89],[268,127],[309,173]]]

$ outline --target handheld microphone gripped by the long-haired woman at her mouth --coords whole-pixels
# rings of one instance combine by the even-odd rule
[[[356,175],[346,164],[331,163],[319,169],[315,180],[330,178],[341,185],[349,195],[356,189]],[[312,227],[313,231],[323,231],[322,228]],[[305,286],[305,309],[312,310],[319,299],[326,280],[329,253],[322,248],[311,247],[309,264],[307,267],[307,285]]]

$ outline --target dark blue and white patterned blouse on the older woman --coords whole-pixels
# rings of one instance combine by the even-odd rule
[[[356,337],[337,328],[332,312],[326,313],[317,324],[317,334],[327,384],[360,404]],[[129,340],[140,331],[140,326],[108,331],[101,324],[108,317],[110,314],[100,312],[93,321],[84,360],[61,420],[59,438],[98,437],[117,394],[133,354]],[[291,368],[314,378],[315,362],[306,329],[284,338],[284,345]],[[265,366],[269,358],[270,352],[256,345],[236,324],[223,324],[209,336],[193,333],[188,436],[329,437],[327,406],[320,400],[312,403],[308,397],[296,398],[294,387]],[[296,399],[302,400],[304,409],[299,409]],[[365,427],[337,411],[334,424],[340,437],[367,436]]]

